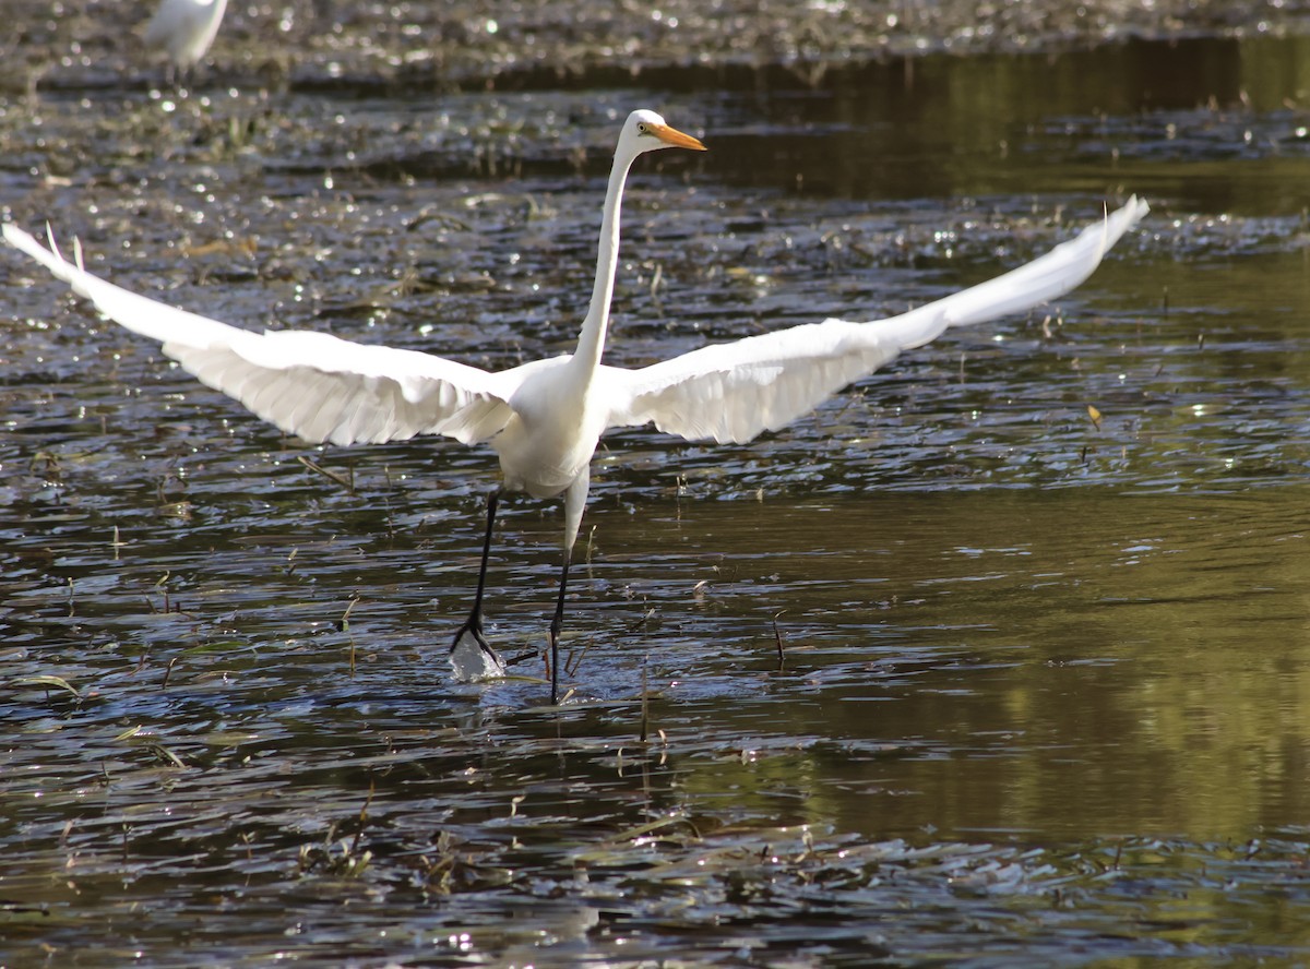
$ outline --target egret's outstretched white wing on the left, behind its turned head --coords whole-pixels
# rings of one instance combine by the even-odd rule
[[[110,320],[161,342],[189,373],[307,441],[439,433],[472,444],[500,431],[512,415],[507,401],[524,368],[487,373],[325,333],[241,330],[106,283],[14,225],[4,227],[4,237]]]

